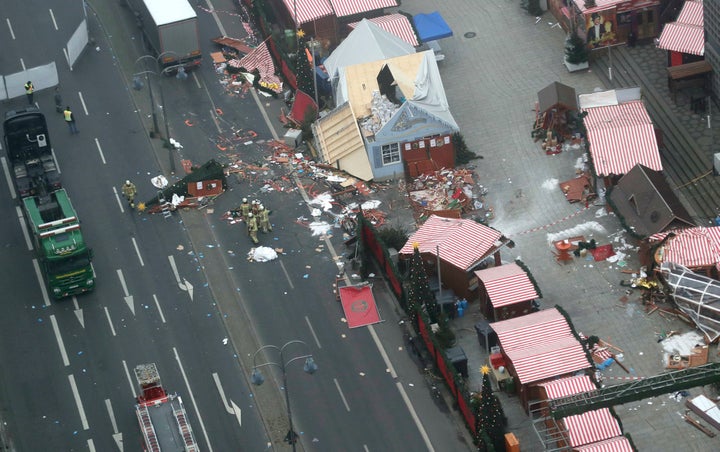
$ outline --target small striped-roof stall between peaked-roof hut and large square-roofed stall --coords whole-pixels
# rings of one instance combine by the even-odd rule
[[[477,270],[475,276],[481,310],[490,321],[527,314],[539,298],[530,276],[516,263]]]

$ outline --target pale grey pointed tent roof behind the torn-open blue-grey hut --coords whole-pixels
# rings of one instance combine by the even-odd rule
[[[330,79],[347,66],[415,53],[415,48],[378,25],[363,19],[323,62]],[[338,102],[340,105],[342,102]]]

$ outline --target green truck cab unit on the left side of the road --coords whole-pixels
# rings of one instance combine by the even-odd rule
[[[30,196],[23,204],[50,294],[60,299],[93,290],[92,250],[67,192]]]

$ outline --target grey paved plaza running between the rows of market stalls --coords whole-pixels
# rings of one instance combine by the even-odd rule
[[[578,94],[605,89],[596,69],[568,73],[562,64],[563,30],[550,13],[536,21],[519,2],[456,0],[449,7],[438,0],[410,0],[403,3],[402,10],[411,14],[438,10],[455,33],[441,41],[446,58],[440,63],[440,73],[465,141],[483,156],[473,163],[479,182],[490,189],[487,200],[495,207],[490,225],[516,243],[514,249],[503,251],[503,261],[520,259],[529,267],[543,293],[542,308],[560,305],[577,331],[622,348],[632,376],[663,373],[664,352],[655,333],[692,328],[678,320],[647,315],[638,292],[624,299],[625,288],[619,282],[627,275],[621,270],[639,268],[636,244],[602,206],[585,209],[569,204],[560,192],[558,181],[574,177],[582,151],[548,156],[530,137],[537,92],[554,81],[575,88]],[[643,47],[633,52],[643,54]],[[658,66],[657,52],[648,53],[652,56],[638,58],[638,63]],[[664,80],[653,79],[658,83]],[[679,125],[688,125],[691,134],[701,133],[699,118],[689,109],[679,107],[673,113]],[[699,141],[707,141],[705,132]],[[575,258],[567,265],[556,263],[551,242],[577,235],[594,238],[599,244],[612,243],[623,256],[617,263],[585,258]],[[479,369],[487,361],[473,328],[480,318],[477,303],[473,303],[463,317],[452,320],[459,345],[468,356],[469,387],[478,391],[482,381]],[[711,360],[717,359],[716,353],[712,346]],[[629,376],[617,366],[603,374]],[[608,379],[604,383],[618,382]],[[708,390],[694,388],[690,393]],[[542,450],[518,397],[499,396],[509,419],[508,431],[518,437],[521,449]],[[624,431],[631,434],[639,450],[716,449],[715,440],[681,419],[678,413],[684,410],[684,400],[676,401],[670,395],[615,407]]]

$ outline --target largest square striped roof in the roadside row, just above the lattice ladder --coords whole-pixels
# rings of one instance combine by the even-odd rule
[[[492,324],[520,384],[591,367],[583,346],[557,309]]]

